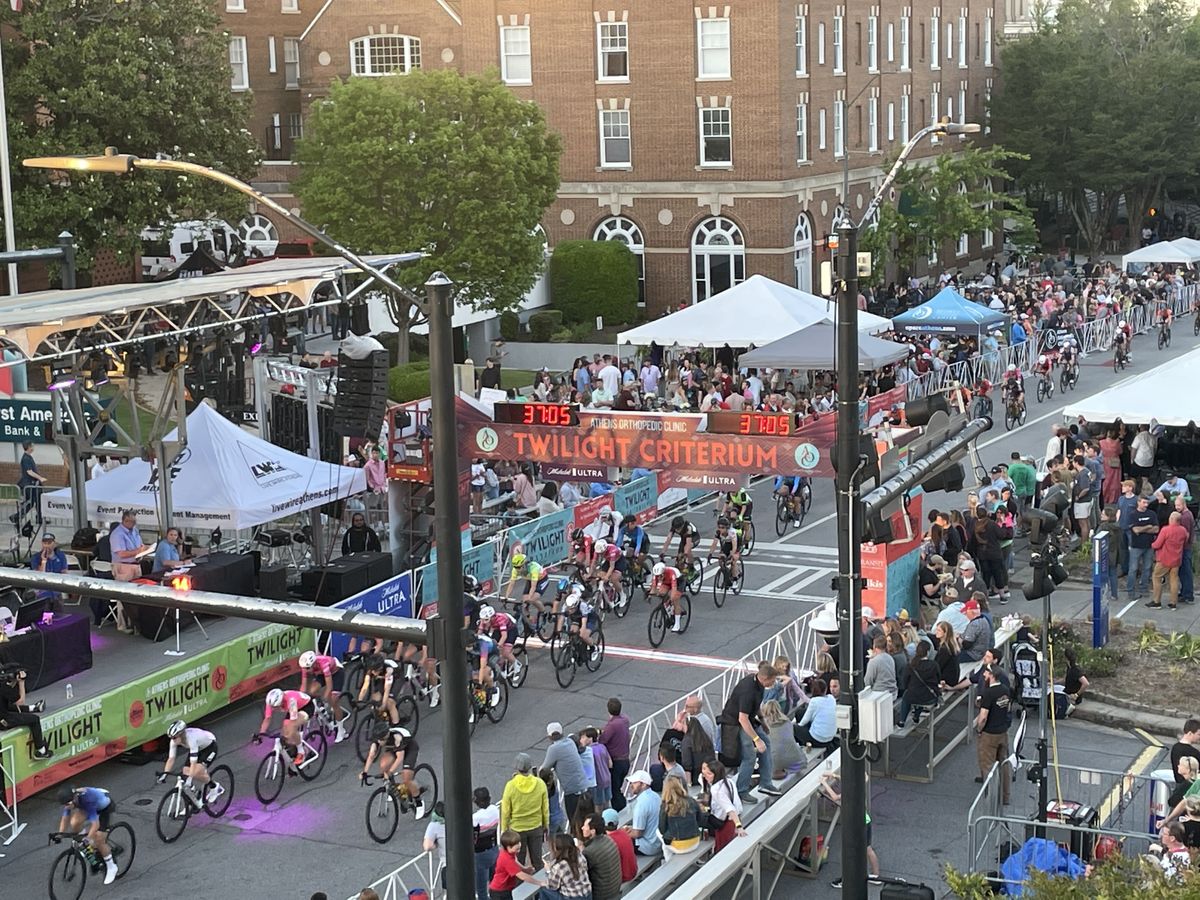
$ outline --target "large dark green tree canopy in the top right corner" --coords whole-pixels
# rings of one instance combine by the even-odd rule
[[[1121,199],[1136,246],[1146,209],[1193,187],[1200,162],[1200,26],[1177,0],[1063,0],[1006,46],[991,122],[1028,158],[1026,187],[1061,197],[1099,253]]]

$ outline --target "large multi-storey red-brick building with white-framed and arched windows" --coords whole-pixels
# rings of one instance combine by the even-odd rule
[[[288,197],[292,140],[334,78],[415,67],[499,70],[564,139],[544,227],[624,240],[650,312],[752,274],[811,289],[842,199],[931,120],[984,121],[998,0],[217,0],[234,90],[256,100]],[[1001,20],[997,23],[997,18]],[[929,156],[944,151],[926,144]],[[284,200],[287,202],[287,200]],[[265,223],[260,222],[265,227]],[[964,235],[942,265],[998,250]]]

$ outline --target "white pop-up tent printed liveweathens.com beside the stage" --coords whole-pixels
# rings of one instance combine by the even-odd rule
[[[175,433],[168,436],[173,440]],[[172,467],[172,508],[181,528],[253,528],[366,490],[366,473],[310,460],[242,431],[206,403],[187,416],[187,446]],[[158,467],[133,460],[86,485],[88,518],[122,509],[158,522]],[[42,515],[71,521],[71,488],[42,496]]]

